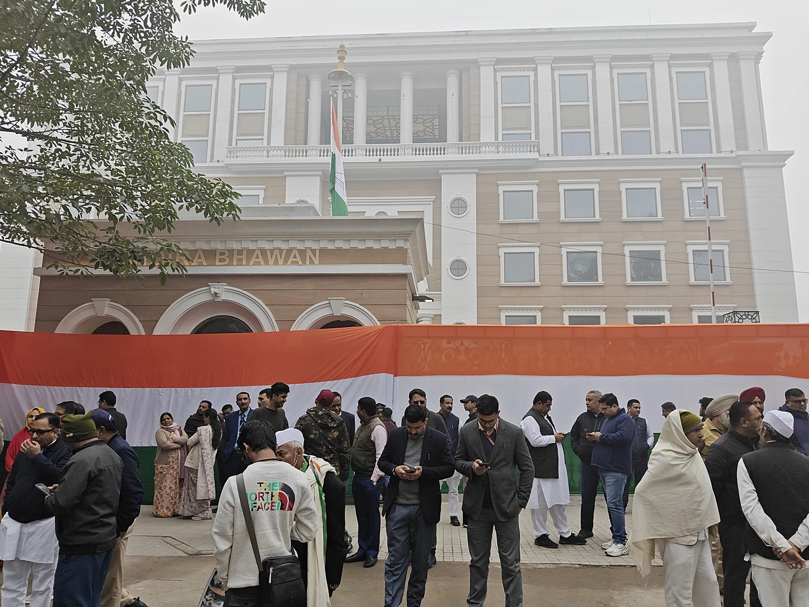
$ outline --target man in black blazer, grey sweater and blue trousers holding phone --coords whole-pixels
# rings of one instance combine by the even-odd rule
[[[409,405],[405,427],[391,432],[379,456],[379,469],[391,477],[382,507],[388,532],[386,607],[401,604],[408,564],[407,605],[421,605],[435,525],[441,518],[441,481],[452,473],[447,435],[427,427],[426,421],[424,407]]]

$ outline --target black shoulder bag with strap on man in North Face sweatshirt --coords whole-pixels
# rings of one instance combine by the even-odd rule
[[[306,585],[303,584],[301,563],[298,557],[290,554],[261,560],[258,541],[256,541],[256,528],[253,525],[248,504],[248,494],[244,488],[244,474],[236,477],[236,489],[239,491],[244,523],[247,525],[253,554],[256,557],[260,607],[306,607]]]

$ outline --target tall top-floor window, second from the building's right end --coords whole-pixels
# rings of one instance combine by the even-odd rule
[[[615,70],[615,94],[621,154],[654,154],[648,68]]]

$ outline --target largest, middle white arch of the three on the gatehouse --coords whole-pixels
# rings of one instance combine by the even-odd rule
[[[273,313],[264,302],[226,282],[210,282],[207,287],[190,291],[170,305],[155,325],[154,335],[188,335],[213,316],[233,316],[254,333],[277,331]]]

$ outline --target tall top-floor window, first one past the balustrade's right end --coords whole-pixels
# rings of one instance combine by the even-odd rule
[[[593,108],[590,70],[557,70],[559,149],[563,156],[593,152]]]

